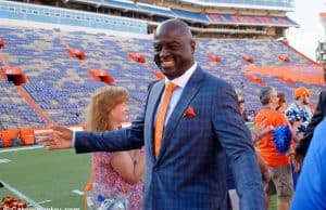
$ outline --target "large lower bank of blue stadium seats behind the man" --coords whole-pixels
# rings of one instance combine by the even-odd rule
[[[88,73],[90,68],[106,70],[114,78],[114,86],[127,88],[131,95],[127,120],[135,119],[141,102],[147,95],[148,84],[155,80],[153,73],[158,68],[152,61],[153,51],[150,39],[9,26],[0,26],[0,35],[8,43],[8,47],[2,49],[2,53],[8,55],[10,65],[20,66],[23,69],[29,81],[29,83],[23,84],[23,88],[58,124],[83,123],[85,121],[83,114],[90,94],[99,87],[106,86],[90,79]],[[83,50],[86,60],[80,62],[71,58],[66,53],[67,48]],[[130,61],[128,53],[143,55],[147,63],[140,64]],[[222,62],[210,61],[208,58],[210,53],[220,56]],[[197,62],[203,69],[226,79],[235,88],[242,90],[249,109],[260,108],[258,94],[262,86],[248,81],[244,73],[240,70],[242,66],[249,65],[241,58],[242,54],[252,56],[255,66],[313,64],[283,42],[275,40],[198,39]],[[291,62],[279,61],[279,54],[286,54]],[[292,99],[296,87],[305,86],[316,93],[322,89],[319,86],[303,82],[289,86],[269,76],[259,77],[264,79],[267,84],[277,87],[285,92],[289,101]],[[0,84],[13,86],[4,82],[0,82]],[[14,88],[2,94],[17,95]],[[2,109],[0,111],[8,113],[9,109],[14,108],[23,113],[23,108],[20,106],[24,104],[24,101],[20,96],[16,97],[20,101],[15,100],[14,103],[9,104],[3,104],[1,100]],[[312,100],[316,102],[316,95]],[[16,117],[9,117],[5,124],[12,127],[22,127],[26,123],[35,127],[45,124],[45,121],[35,111],[30,113],[34,114],[15,122],[12,120]]]

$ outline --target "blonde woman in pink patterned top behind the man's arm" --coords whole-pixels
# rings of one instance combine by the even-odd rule
[[[108,86],[96,91],[87,107],[87,130],[103,132],[120,129],[128,99],[128,92],[121,87]],[[93,182],[98,183],[102,196],[113,198],[124,194],[128,198],[129,210],[142,209],[142,150],[93,153],[92,166],[96,166]]]

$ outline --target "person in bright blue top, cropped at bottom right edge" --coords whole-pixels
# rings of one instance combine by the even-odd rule
[[[291,204],[291,210],[326,209],[325,136],[326,117],[314,129]]]

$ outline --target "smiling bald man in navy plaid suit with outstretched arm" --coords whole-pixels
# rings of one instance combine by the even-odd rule
[[[146,210],[227,209],[226,159],[240,208],[265,209],[262,179],[237,95],[230,84],[197,65],[195,49],[184,22],[163,22],[154,35],[154,62],[165,81],[152,86],[129,128],[105,133],[54,128],[36,137],[49,149],[75,147],[77,153],[135,149],[145,144]],[[168,104],[160,150],[154,155],[155,120],[167,81],[177,89]]]

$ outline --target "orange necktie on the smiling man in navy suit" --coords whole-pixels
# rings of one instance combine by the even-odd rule
[[[164,121],[165,121],[165,116],[167,111],[167,107],[170,104],[171,95],[172,92],[177,88],[176,84],[172,83],[171,81],[167,81],[165,84],[165,91],[164,91],[164,97],[163,102],[161,104],[156,122],[155,122],[155,133],[154,133],[154,155],[155,157],[159,156],[159,152],[161,148],[161,143],[162,143],[162,135],[163,135],[163,130],[164,130]]]

